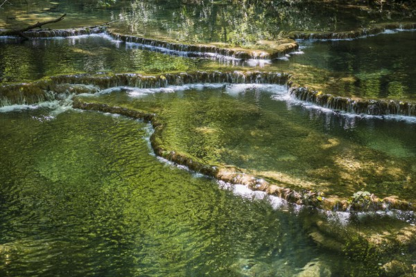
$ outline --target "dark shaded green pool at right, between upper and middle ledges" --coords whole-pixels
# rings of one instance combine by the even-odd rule
[[[294,55],[291,62],[349,77],[349,84],[334,91],[341,95],[415,101],[416,32],[394,32],[352,40],[303,41],[304,55]]]

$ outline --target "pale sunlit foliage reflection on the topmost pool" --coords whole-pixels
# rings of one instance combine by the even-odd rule
[[[343,1],[135,0],[121,17],[138,35],[247,45],[291,30],[358,28],[383,15]]]

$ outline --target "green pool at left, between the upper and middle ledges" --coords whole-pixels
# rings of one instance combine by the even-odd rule
[[[211,60],[143,51],[103,35],[4,42],[0,41],[0,82],[30,81],[79,72],[192,71],[211,63],[221,68],[221,64]]]

